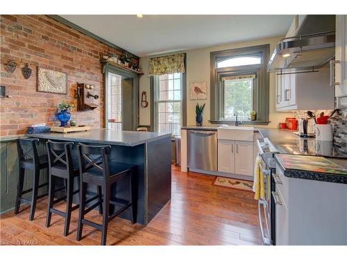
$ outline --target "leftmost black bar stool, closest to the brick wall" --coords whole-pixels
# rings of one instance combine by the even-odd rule
[[[39,185],[40,170],[47,168],[48,159],[46,155],[39,156],[37,154],[37,145],[39,144],[39,139],[17,139],[17,152],[19,160],[19,174],[18,174],[18,184],[17,184],[17,198],[15,203],[15,214],[18,214],[19,207],[22,202],[26,202],[31,205],[29,220],[34,219],[36,201],[47,193],[37,196],[38,190],[45,187],[47,183]],[[33,188],[23,191],[24,186],[24,174],[25,170],[33,171]],[[32,191],[31,200],[26,200],[22,196],[26,193]]]

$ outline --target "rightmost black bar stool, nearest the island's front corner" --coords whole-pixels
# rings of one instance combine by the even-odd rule
[[[133,169],[132,164],[124,164],[121,162],[109,162],[108,155],[110,154],[111,146],[87,146],[78,143],[78,162],[80,167],[80,211],[78,214],[78,229],[77,241],[81,240],[83,224],[90,225],[101,230],[101,245],[106,244],[106,236],[108,232],[108,223],[119,216],[126,209],[130,210],[131,223],[133,223],[135,210],[133,209]],[[110,189],[112,184],[115,184],[123,177],[128,177],[128,192],[129,200],[110,200]],[[101,201],[94,205],[86,207],[85,193],[87,184],[94,184],[102,189],[102,214],[103,223],[99,225],[89,220],[85,220],[85,214],[92,211],[100,205]],[[110,204],[117,206],[117,210],[110,216]],[[120,207],[120,208],[119,208]]]

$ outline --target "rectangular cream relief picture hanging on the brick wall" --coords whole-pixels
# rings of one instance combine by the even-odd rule
[[[67,73],[37,67],[37,92],[67,94]]]

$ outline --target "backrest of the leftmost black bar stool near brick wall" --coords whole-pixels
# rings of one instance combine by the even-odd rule
[[[37,153],[37,145],[39,144],[39,139],[37,138],[19,138],[17,139],[17,152],[19,162],[23,162],[26,159],[32,159],[33,164],[38,166],[39,155]]]

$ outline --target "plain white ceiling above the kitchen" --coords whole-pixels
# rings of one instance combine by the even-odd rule
[[[143,57],[285,35],[294,15],[60,15]]]

